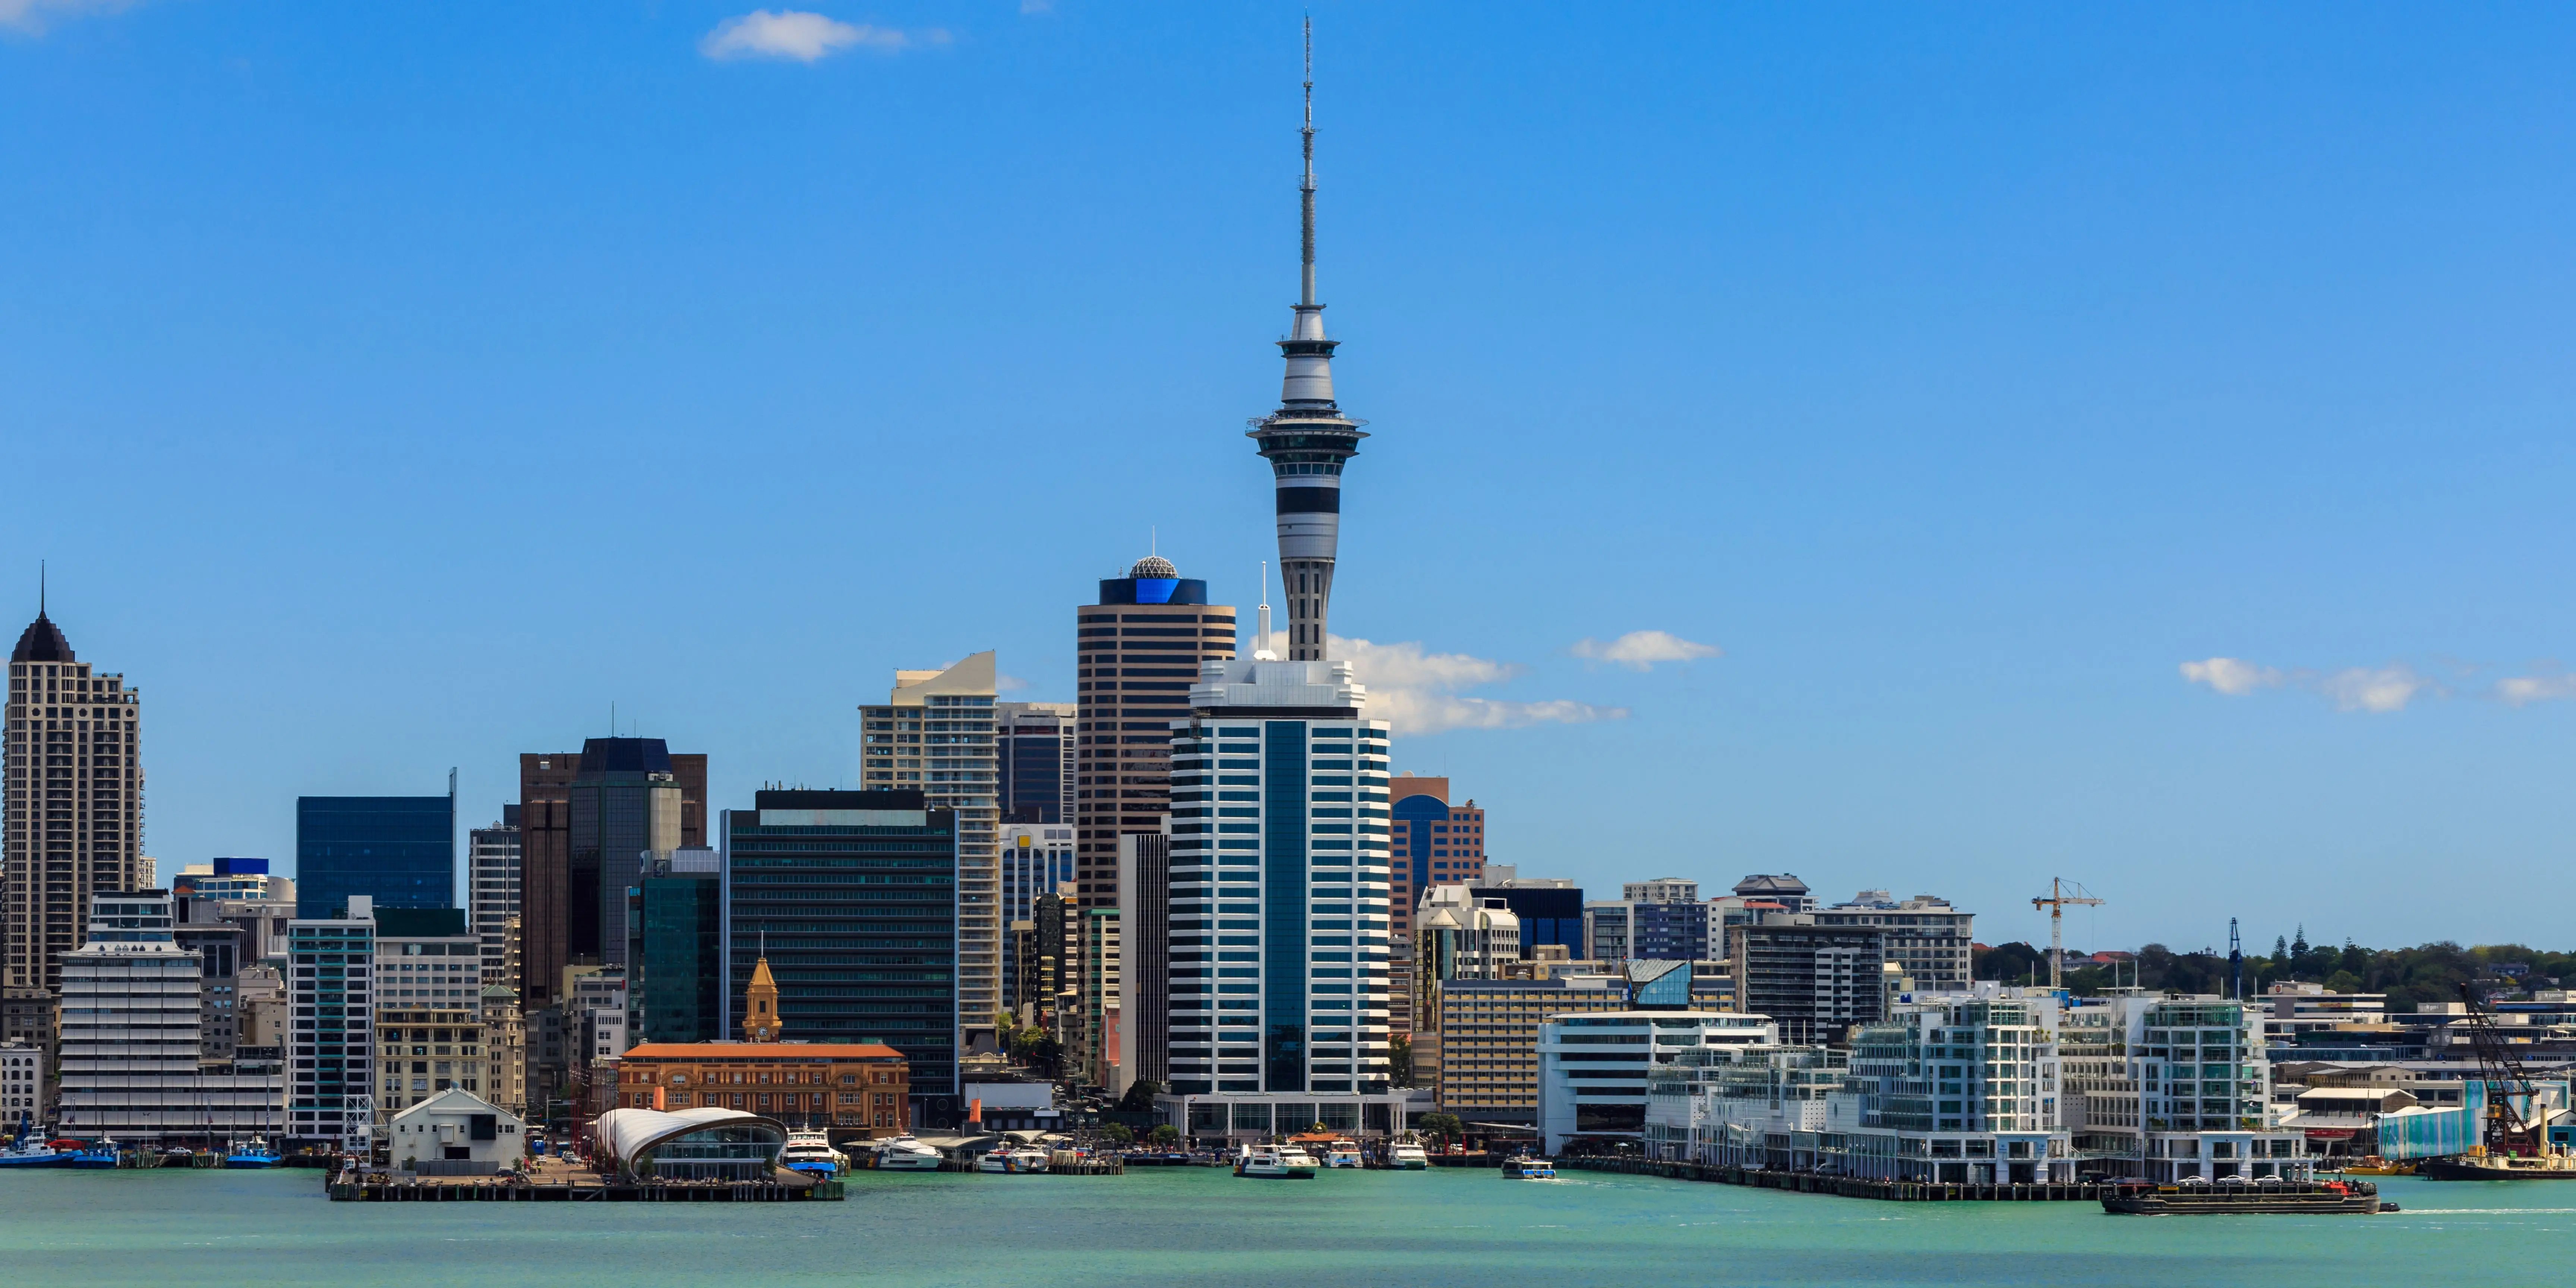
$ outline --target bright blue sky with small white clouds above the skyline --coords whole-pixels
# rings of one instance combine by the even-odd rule
[[[0,0],[0,564],[162,871],[1252,603],[1301,10],[768,13]],[[2566,945],[2566,10],[1314,13],[1334,629],[1497,860]]]

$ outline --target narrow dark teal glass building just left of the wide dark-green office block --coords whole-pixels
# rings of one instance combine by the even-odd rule
[[[724,863],[716,850],[654,855],[629,902],[626,1033],[641,1043],[724,1038]]]

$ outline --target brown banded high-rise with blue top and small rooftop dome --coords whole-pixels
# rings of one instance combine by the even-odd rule
[[[1074,611],[1074,899],[1118,907],[1118,837],[1162,835],[1172,721],[1208,659],[1234,657],[1234,608],[1208,582],[1144,556]]]

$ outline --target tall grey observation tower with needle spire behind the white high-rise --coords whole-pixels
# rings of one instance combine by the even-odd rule
[[[1314,301],[1314,21],[1306,21],[1306,173],[1298,178],[1303,252],[1298,258],[1296,327],[1280,340],[1288,379],[1280,410],[1252,422],[1252,440],[1278,484],[1280,582],[1288,590],[1288,662],[1324,659],[1324,613],[1332,564],[1342,544],[1342,461],[1360,453],[1360,425],[1332,402],[1332,348],[1324,307]]]

